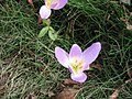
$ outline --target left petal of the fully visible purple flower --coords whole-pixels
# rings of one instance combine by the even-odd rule
[[[61,47],[55,47],[55,57],[62,64],[64,67],[68,68],[68,53],[66,53],[63,48]]]

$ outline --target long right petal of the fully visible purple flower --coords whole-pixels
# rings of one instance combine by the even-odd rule
[[[82,53],[82,57],[87,61],[87,64],[91,64],[99,55],[99,52],[101,50],[100,42],[94,43],[90,47],[88,47]]]

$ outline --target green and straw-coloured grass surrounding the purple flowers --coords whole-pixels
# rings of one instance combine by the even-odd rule
[[[25,1],[15,0],[0,4],[1,99],[29,99],[31,95],[50,99],[47,92],[61,92],[61,84],[70,74],[54,57],[54,48],[61,46],[68,52],[74,43],[82,50],[97,41],[102,44],[96,61],[102,70],[91,72],[77,99],[108,99],[131,78],[132,33],[121,20],[132,23],[131,8],[108,0],[69,0],[64,9],[53,12],[52,26],[61,31],[53,42],[48,35],[37,38],[43,25],[37,24],[35,12],[42,3],[35,6],[33,10]],[[131,99],[131,90],[132,85],[124,84],[119,99]]]

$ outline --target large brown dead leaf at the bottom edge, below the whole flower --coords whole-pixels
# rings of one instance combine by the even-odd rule
[[[57,99],[75,99],[79,89],[65,88],[57,95]]]

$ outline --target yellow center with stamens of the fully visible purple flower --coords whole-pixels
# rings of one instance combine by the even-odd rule
[[[78,61],[78,59],[74,59],[72,63],[70,63],[70,66],[72,66],[72,70],[74,73],[79,73],[79,72],[82,72],[82,61]]]

